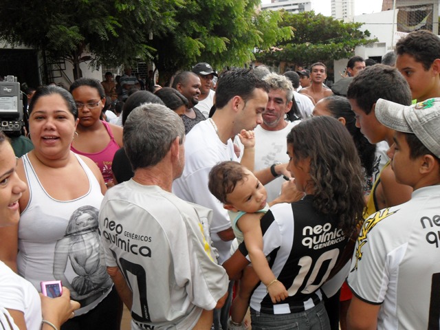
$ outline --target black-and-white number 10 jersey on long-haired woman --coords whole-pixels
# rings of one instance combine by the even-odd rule
[[[272,206],[261,219],[263,252],[269,256],[272,272],[289,292],[274,305],[263,283],[256,287],[250,307],[266,314],[298,313],[322,300],[325,283],[347,239],[336,227],[337,219],[317,212],[313,196],[295,203]],[[239,245],[247,256],[245,244]]]

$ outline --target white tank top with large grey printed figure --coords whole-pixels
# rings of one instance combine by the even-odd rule
[[[41,281],[61,280],[70,289],[71,298],[81,304],[75,312],[80,315],[109,294],[112,282],[100,261],[100,185],[83,159],[75,156],[87,175],[89,191],[71,201],[50,197],[28,154],[23,156],[29,203],[19,222],[17,266],[19,274],[39,292]]]

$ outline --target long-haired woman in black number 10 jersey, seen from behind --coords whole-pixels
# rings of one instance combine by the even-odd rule
[[[294,126],[287,135],[287,154],[287,170],[306,195],[273,206],[261,219],[261,228],[274,281],[283,283],[289,296],[274,304],[265,285],[257,286],[250,300],[252,329],[287,330],[295,324],[298,329],[330,329],[322,285],[362,218],[360,161],[347,129],[325,116]],[[247,253],[240,246],[223,263],[230,277],[248,263]]]

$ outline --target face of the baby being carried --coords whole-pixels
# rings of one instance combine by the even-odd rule
[[[237,182],[234,190],[226,196],[229,202],[225,204],[227,210],[254,213],[266,206],[267,192],[263,184],[250,170],[245,170],[245,173],[244,179]]]

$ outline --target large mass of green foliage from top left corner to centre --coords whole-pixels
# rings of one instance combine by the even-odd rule
[[[151,60],[162,80],[199,61],[221,68],[250,63],[292,36],[260,0],[2,0],[0,41],[41,50],[43,58],[116,66]]]

